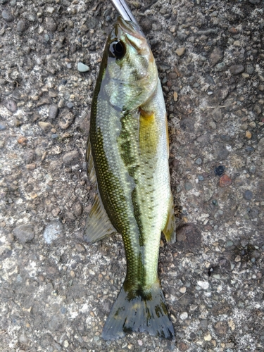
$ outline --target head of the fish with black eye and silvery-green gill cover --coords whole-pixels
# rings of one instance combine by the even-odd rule
[[[105,93],[112,106],[132,111],[146,102],[158,84],[158,71],[146,37],[131,21],[118,18],[104,51]]]

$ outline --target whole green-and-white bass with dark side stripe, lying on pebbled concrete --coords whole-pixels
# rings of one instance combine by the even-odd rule
[[[175,242],[168,123],[158,70],[139,27],[118,18],[103,51],[91,106],[87,172],[96,188],[84,227],[94,244],[120,233],[127,273],[102,337],[175,339],[161,284],[161,232]]]

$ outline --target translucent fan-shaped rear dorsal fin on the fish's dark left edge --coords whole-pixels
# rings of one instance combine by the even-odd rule
[[[96,194],[84,228],[84,240],[90,244],[117,232],[111,224],[99,194]]]

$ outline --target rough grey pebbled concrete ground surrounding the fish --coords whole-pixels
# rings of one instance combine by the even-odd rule
[[[264,1],[129,1],[156,57],[177,243],[159,275],[177,341],[101,329],[120,235],[83,241],[84,154],[116,14],[108,1],[0,1],[0,350],[264,351]]]

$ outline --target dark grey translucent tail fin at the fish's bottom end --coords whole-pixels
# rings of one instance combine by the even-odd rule
[[[155,284],[147,294],[133,295],[122,287],[103,327],[105,340],[118,339],[130,332],[149,332],[155,337],[175,339],[163,291]]]

